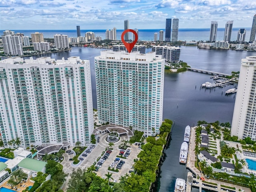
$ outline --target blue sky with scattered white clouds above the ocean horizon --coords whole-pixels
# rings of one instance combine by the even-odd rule
[[[256,0],[0,0],[0,30],[164,29],[166,18],[179,28],[252,26]]]

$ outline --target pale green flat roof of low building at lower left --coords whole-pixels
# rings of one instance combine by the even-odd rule
[[[31,158],[24,158],[18,165],[21,168],[39,172],[39,171],[43,170],[43,168],[46,165],[46,162],[38,161],[35,159],[31,159]]]

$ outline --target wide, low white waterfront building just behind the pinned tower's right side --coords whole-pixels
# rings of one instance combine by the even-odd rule
[[[162,55],[166,61],[178,63],[180,61],[180,48],[175,46],[153,46],[152,51]]]

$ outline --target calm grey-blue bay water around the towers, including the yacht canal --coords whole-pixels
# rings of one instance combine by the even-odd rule
[[[204,50],[196,46],[181,46],[181,48],[181,60],[191,67],[226,74],[240,70],[241,58],[256,56],[256,52],[249,51]],[[101,50],[106,49],[72,47],[70,51],[40,56],[51,56],[56,59],[80,56],[81,59],[90,60],[93,107],[97,108],[94,56],[100,55]],[[151,49],[148,48],[148,51]],[[178,177],[186,180],[188,170],[185,165],[179,164],[179,154],[187,125],[196,125],[198,120],[232,122],[235,94],[226,96],[225,91],[237,85],[207,90],[200,88],[204,82],[212,81],[210,76],[212,75],[192,71],[172,73],[166,70],[165,72],[163,118],[172,120],[174,127],[170,146],[165,151],[166,160],[161,168],[159,192],[173,192]],[[192,192],[198,191],[198,189],[192,190]]]

